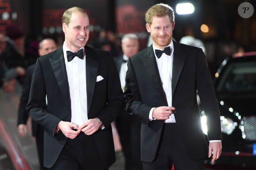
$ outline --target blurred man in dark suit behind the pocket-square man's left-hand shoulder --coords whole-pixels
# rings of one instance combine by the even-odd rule
[[[40,56],[46,55],[50,52],[53,52],[57,49],[56,43],[51,38],[45,38],[39,43],[38,53]],[[23,84],[22,95],[19,103],[19,111],[18,111],[18,131],[19,134],[25,137],[27,133],[27,121],[29,115],[26,112],[26,104],[28,103],[30,86],[32,81],[32,75],[34,71],[34,65],[31,65],[26,70],[26,77]],[[46,169],[44,165],[44,128],[39,125],[37,122],[32,121],[32,135],[36,138],[38,157],[40,162],[41,170]]]

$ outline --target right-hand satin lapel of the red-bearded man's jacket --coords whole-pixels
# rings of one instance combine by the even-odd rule
[[[181,71],[184,67],[188,53],[185,53],[181,46],[173,41],[174,52],[173,52],[173,75],[172,75],[172,96],[175,92],[178,80],[181,75]]]

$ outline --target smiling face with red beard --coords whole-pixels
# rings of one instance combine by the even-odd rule
[[[147,23],[147,32],[151,34],[153,44],[159,48],[164,49],[172,41],[174,21],[171,22],[169,16],[152,17],[151,26]]]

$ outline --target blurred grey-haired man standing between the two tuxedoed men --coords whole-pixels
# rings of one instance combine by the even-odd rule
[[[134,33],[124,34],[121,40],[123,55],[115,58],[121,87],[124,91],[127,60],[139,52],[139,39]],[[140,161],[140,124],[139,118],[129,115],[125,109],[116,119],[116,126],[125,157],[125,170],[142,170]]]

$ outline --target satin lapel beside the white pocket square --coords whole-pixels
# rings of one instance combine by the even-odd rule
[[[87,46],[86,54],[86,86],[87,86],[87,113],[90,113],[90,107],[94,96],[96,78],[98,76],[99,57]]]

